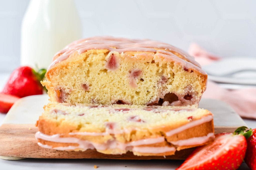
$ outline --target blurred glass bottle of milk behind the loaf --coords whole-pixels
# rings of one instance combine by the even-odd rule
[[[30,0],[21,28],[21,65],[47,68],[54,54],[81,37],[73,0]]]

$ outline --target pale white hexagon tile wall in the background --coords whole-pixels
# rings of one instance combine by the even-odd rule
[[[19,64],[20,24],[29,1],[0,1],[0,71],[11,71]],[[184,50],[196,42],[221,57],[255,57],[254,0],[75,2],[82,19],[84,37],[151,38]]]

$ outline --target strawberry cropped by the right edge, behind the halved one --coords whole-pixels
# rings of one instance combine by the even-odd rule
[[[252,129],[252,135],[247,139],[247,145],[244,161],[252,170],[256,170],[256,128]]]

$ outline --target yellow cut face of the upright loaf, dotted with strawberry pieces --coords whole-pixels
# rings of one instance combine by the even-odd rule
[[[207,75],[152,52],[74,52],[55,64],[41,82],[52,102],[192,105],[206,88]],[[164,103],[164,104],[163,104]]]

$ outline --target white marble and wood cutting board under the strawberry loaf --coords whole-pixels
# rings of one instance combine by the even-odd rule
[[[0,127],[0,155],[5,156],[1,158],[186,159],[194,150],[190,148],[176,151],[175,155],[164,158],[163,156],[135,156],[131,152],[122,155],[106,155],[96,150],[75,152],[41,148],[35,139],[37,132],[35,122],[47,102],[47,95],[37,95],[22,98],[14,104]],[[215,133],[233,132],[239,126],[246,126],[241,117],[222,101],[202,99],[199,107],[208,109],[214,114]]]

